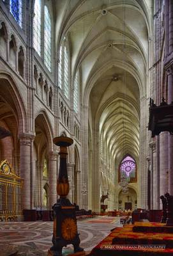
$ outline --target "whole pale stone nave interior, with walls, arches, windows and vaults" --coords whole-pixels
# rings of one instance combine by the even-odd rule
[[[0,161],[24,180],[23,209],[55,204],[61,134],[80,209],[100,212],[107,193],[107,211],[160,209],[173,140],[151,138],[148,109],[173,100],[173,1],[11,2],[0,1]]]

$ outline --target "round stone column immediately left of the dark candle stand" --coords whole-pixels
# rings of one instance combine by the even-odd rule
[[[57,202],[57,151],[49,152],[49,209]]]

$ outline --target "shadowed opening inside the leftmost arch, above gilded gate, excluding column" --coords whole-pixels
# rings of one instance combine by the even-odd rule
[[[7,159],[17,175],[20,175],[18,135],[24,129],[25,118],[24,105],[15,83],[10,76],[0,74],[0,125],[11,132],[11,136],[0,140],[0,161]]]

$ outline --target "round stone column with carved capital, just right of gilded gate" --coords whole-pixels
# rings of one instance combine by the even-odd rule
[[[31,209],[31,135],[20,134],[20,177],[24,179],[23,207]]]

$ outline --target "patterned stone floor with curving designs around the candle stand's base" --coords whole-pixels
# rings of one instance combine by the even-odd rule
[[[3,244],[15,244],[21,256],[47,255],[52,246],[52,222],[1,222],[0,248]],[[90,251],[114,227],[121,227],[118,217],[100,217],[77,221],[80,246]],[[63,255],[71,252],[72,246],[63,249]],[[1,250],[0,250],[1,256]]]

